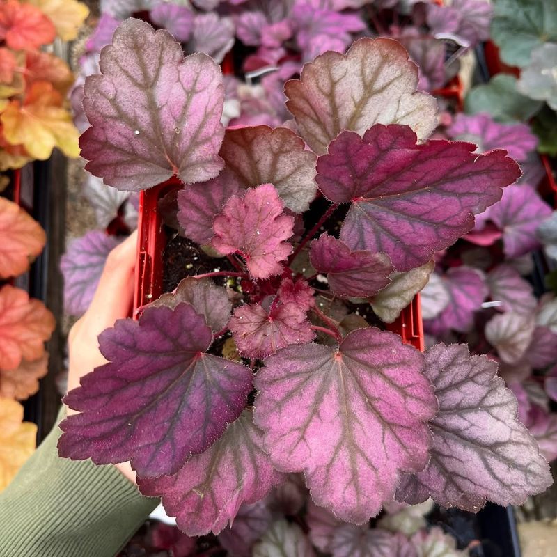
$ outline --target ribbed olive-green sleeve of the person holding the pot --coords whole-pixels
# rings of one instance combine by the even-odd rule
[[[60,434],[0,492],[0,557],[113,557],[159,503],[114,466],[58,457]]]

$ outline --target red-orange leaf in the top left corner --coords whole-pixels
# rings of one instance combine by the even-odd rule
[[[0,4],[0,40],[15,50],[32,50],[56,38],[50,19],[36,6],[8,0]]]

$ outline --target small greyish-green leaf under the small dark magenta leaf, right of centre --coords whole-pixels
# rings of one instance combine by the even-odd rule
[[[394,272],[389,276],[391,284],[370,298],[373,311],[385,323],[393,323],[400,312],[427,284],[435,267],[433,260],[405,273]]]

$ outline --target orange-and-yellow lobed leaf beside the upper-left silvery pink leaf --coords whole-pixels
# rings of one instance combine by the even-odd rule
[[[79,132],[62,95],[47,81],[33,83],[23,104],[11,101],[0,120],[6,141],[23,145],[35,159],[48,159],[54,147],[68,157],[79,155]]]

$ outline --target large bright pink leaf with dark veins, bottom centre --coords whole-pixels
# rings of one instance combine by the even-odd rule
[[[281,470],[305,471],[313,501],[362,524],[419,471],[435,399],[423,356],[400,336],[358,329],[340,347],[287,347],[256,376],[255,421]]]

